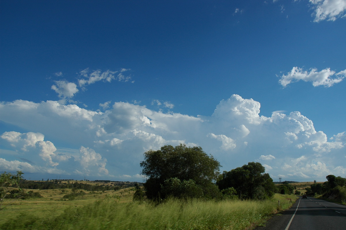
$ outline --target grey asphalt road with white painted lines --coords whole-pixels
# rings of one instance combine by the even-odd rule
[[[301,197],[300,197],[301,198]],[[346,206],[312,197],[298,199],[292,208],[256,230],[345,230]]]

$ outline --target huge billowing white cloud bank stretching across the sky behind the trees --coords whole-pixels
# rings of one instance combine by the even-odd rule
[[[139,162],[145,151],[185,143],[201,146],[225,170],[258,160],[266,164],[270,175],[285,175],[285,180],[346,173],[345,132],[328,140],[298,111],[273,112],[265,117],[260,116],[260,107],[260,102],[236,94],[220,101],[210,116],[197,117],[154,111],[128,102],[115,102],[104,112],[57,101],[0,102],[2,122],[35,134],[4,132],[0,138],[0,164],[4,170],[50,169],[121,180],[122,175],[140,172]],[[43,135],[50,139],[44,140]],[[64,145],[72,150],[66,151]],[[49,156],[53,164],[58,164],[52,165]],[[35,163],[38,160],[46,166],[39,168]]]

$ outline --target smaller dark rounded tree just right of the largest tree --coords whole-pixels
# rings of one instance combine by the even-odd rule
[[[224,171],[217,185],[220,190],[235,188],[240,199],[265,199],[271,197],[275,185],[265,168],[259,162],[249,162],[247,165]]]

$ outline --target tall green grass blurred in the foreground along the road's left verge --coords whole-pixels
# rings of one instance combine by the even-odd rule
[[[292,204],[286,197],[279,198],[281,206],[278,197],[265,201],[219,202],[170,199],[159,205],[102,200],[68,208],[48,219],[21,213],[3,223],[0,229],[247,229],[263,223],[283,209],[282,205]]]

